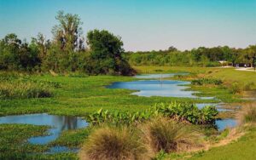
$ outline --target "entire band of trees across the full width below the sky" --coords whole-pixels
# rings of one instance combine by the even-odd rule
[[[121,37],[93,30],[86,41],[78,14],[59,11],[51,40],[42,33],[30,43],[10,33],[0,40],[0,70],[82,71],[89,75],[132,75],[131,66],[220,66],[219,60],[236,66],[255,66],[256,45],[246,49],[228,46],[180,51],[175,47],[148,52],[125,52]],[[87,44],[87,45],[86,45]]]

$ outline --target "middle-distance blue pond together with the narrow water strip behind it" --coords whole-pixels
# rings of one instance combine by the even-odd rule
[[[138,96],[161,96],[161,97],[183,97],[183,98],[200,98],[214,99],[214,97],[197,97],[195,91],[188,90],[190,84],[186,81],[162,80],[164,77],[173,77],[175,75],[186,75],[188,73],[169,73],[169,74],[144,74],[135,77],[144,80],[132,82],[117,82],[107,86],[108,89],[131,89],[135,90]]]

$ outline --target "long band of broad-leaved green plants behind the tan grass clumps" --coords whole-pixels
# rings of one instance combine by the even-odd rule
[[[160,115],[193,124],[213,124],[218,111],[215,106],[205,106],[202,109],[198,109],[194,104],[172,102],[169,104],[156,104],[148,110],[137,112],[104,111],[100,109],[87,115],[86,120],[93,125],[101,123],[131,125],[132,123],[140,123]]]

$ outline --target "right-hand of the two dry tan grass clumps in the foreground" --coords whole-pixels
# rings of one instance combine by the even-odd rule
[[[201,146],[202,134],[197,129],[165,117],[144,123],[140,129],[154,152],[191,151]]]

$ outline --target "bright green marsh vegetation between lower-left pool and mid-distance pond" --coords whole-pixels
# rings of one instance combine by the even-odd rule
[[[128,89],[106,89],[105,86],[117,81],[131,81],[132,77],[51,77],[32,76],[32,79],[60,83],[61,88],[52,88],[50,98],[0,100],[0,116],[49,112],[51,114],[84,116],[100,108],[109,111],[141,111],[159,102],[187,101],[216,102],[189,98],[139,97],[131,95]]]

